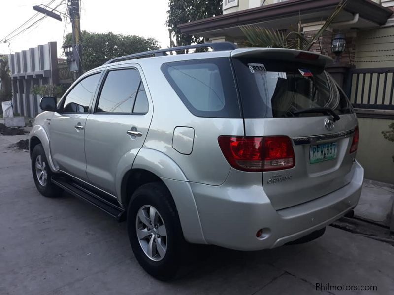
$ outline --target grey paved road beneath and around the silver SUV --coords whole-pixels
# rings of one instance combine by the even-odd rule
[[[394,294],[394,247],[331,227],[273,250],[197,248],[177,281],[157,281],[136,262],[125,223],[70,195],[38,194],[29,154],[7,148],[18,139],[0,136],[0,295]]]

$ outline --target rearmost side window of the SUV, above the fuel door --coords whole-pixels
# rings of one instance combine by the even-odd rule
[[[194,115],[240,118],[237,92],[228,58],[165,63],[162,71]]]

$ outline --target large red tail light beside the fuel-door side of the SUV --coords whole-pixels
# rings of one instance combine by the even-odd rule
[[[219,146],[229,164],[249,172],[275,171],[296,165],[287,136],[219,136]]]

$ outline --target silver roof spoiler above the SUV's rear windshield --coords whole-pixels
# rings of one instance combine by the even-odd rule
[[[285,48],[237,48],[231,51],[232,58],[278,59],[281,61],[298,61],[306,64],[326,67],[334,60],[328,56],[296,49]]]

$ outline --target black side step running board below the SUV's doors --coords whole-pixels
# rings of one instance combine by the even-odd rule
[[[67,178],[52,177],[51,181],[57,186],[63,188],[66,192],[70,193],[71,195],[79,197],[89,202],[90,204],[93,204],[94,206],[100,208],[101,210],[107,212],[112,217],[115,217],[118,221],[123,220],[122,217],[125,213],[125,210],[123,208],[117,206],[116,204],[113,204],[112,202],[105,200],[98,194],[86,189],[82,185],[74,181],[71,181]]]

